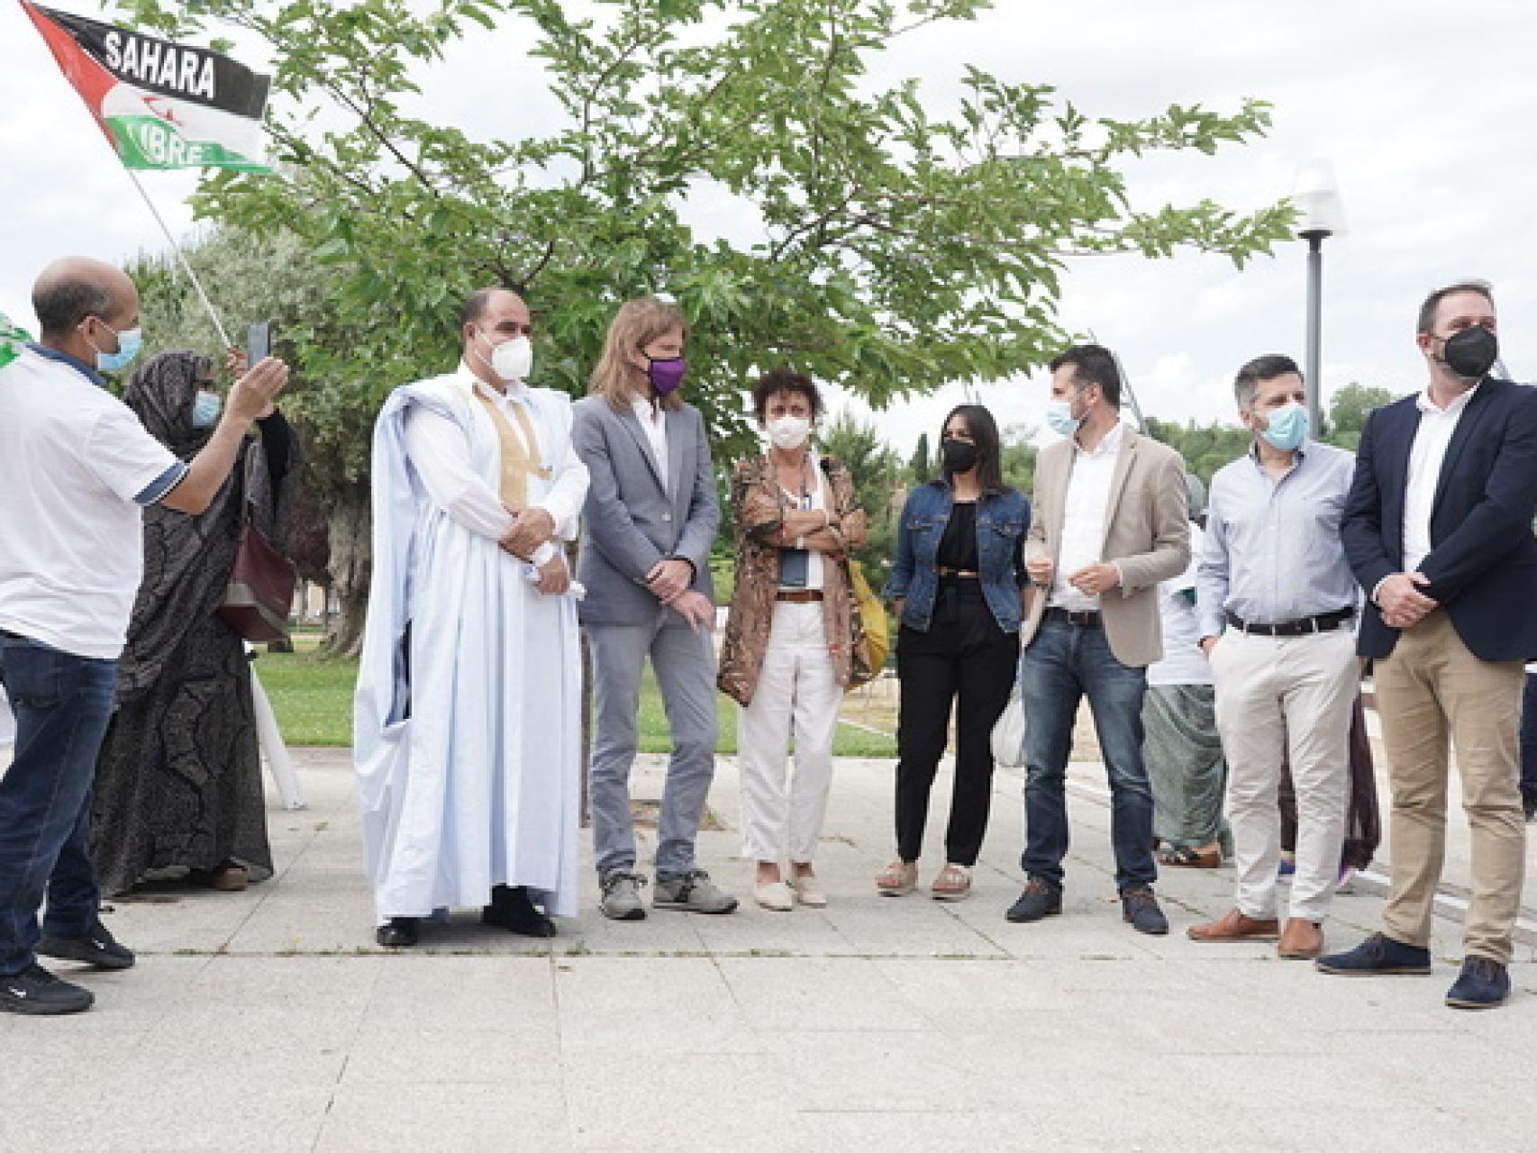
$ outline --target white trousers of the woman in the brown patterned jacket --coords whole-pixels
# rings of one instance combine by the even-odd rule
[[[753,701],[736,718],[742,856],[812,861],[833,783],[841,701],[821,603],[776,601]]]

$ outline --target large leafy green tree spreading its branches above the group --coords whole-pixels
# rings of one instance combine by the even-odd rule
[[[181,38],[229,22],[272,49],[281,171],[214,174],[195,208],[292,231],[335,272],[323,311],[287,331],[317,394],[310,435],[344,461],[327,492],[334,546],[366,541],[378,404],[452,364],[456,306],[487,283],[535,311],[535,383],[573,394],[618,301],[672,294],[693,326],[690,397],[730,460],[752,444],[739,383],[765,363],[876,406],[1022,374],[1065,343],[1070,257],[1194,246],[1243,263],[1290,232],[1286,206],[1142,211],[1127,195],[1124,166],[1148,152],[1262,135],[1260,101],[1094,118],[1050,86],[962,68],[959,109],[941,118],[915,81],[871,81],[893,40],[976,18],[984,0],[610,0],[586,18],[558,0],[117,8]],[[564,123],[480,140],[418,115],[420,86],[467,34],[527,46]],[[696,235],[701,188],[735,195],[752,238]],[[344,613],[355,560],[338,578]]]

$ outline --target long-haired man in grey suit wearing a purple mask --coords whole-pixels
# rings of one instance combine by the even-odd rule
[[[655,298],[619,309],[575,406],[573,440],[592,475],[578,580],[592,647],[592,830],[603,896],[615,921],[646,916],[635,872],[630,766],[641,672],[661,687],[673,753],[658,821],[655,909],[730,913],[695,861],[695,838],[715,776],[715,652],[710,543],[721,513],[699,412],[678,395],[682,317]]]

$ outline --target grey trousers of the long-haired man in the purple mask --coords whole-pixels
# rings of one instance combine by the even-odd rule
[[[670,618],[670,620],[669,620]],[[715,650],[676,613],[652,624],[589,624],[592,649],[592,841],[598,876],[635,867],[630,766],[635,764],[641,672],[650,656],[673,753],[656,829],[656,873],[695,867],[693,841],[715,778]]]

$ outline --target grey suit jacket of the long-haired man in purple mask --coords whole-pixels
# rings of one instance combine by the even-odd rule
[[[630,409],[615,412],[604,397],[586,397],[572,410],[576,455],[592,475],[576,563],[576,580],[587,589],[583,623],[655,621],[661,603],[646,587],[646,573],[669,557],[690,561],[692,587],[713,601],[710,544],[721,510],[698,409],[667,412],[666,484]]]

